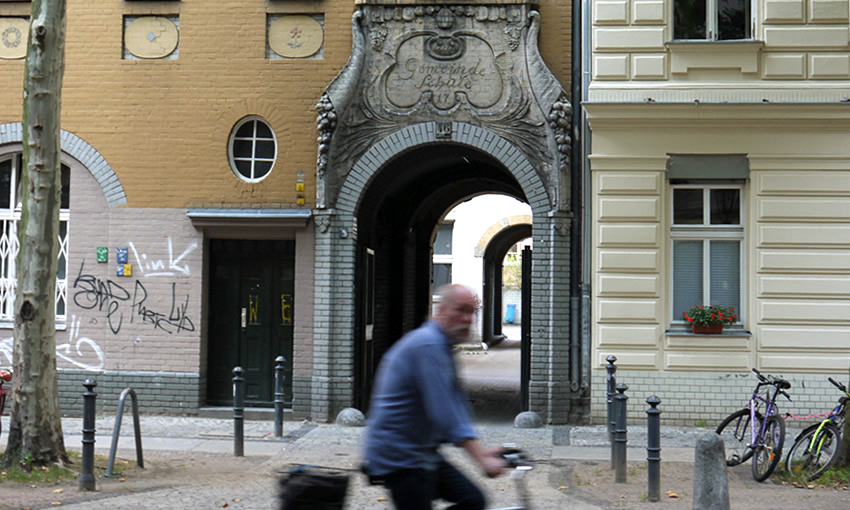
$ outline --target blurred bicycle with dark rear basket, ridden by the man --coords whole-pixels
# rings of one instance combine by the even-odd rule
[[[534,469],[534,466],[524,452],[512,446],[505,446],[501,455],[512,468],[510,478],[516,482],[520,505],[488,510],[531,510],[531,497],[524,480],[525,474]],[[351,470],[298,465],[281,478],[280,509],[342,510],[348,489],[349,475],[344,474],[345,471]],[[369,483],[383,485],[381,480],[372,477],[369,477]]]

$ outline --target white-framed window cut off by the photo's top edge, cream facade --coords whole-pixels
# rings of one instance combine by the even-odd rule
[[[752,0],[673,0],[674,39],[750,39],[752,23]]]

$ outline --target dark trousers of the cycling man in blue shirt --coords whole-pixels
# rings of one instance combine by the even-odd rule
[[[481,489],[445,460],[436,471],[396,471],[386,477],[384,484],[396,510],[431,510],[435,499],[454,503],[448,510],[483,510],[485,505]]]

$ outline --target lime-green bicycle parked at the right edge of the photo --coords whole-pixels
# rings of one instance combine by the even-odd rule
[[[832,466],[838,458],[841,446],[841,430],[844,426],[844,414],[850,393],[847,387],[832,377],[827,378],[844,395],[838,399],[838,405],[826,413],[826,418],[803,429],[785,457],[785,471],[802,474],[807,480],[814,480]],[[822,415],[818,415],[820,417]],[[809,416],[803,418],[810,418]]]

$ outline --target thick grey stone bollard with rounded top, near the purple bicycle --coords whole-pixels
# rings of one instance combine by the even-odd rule
[[[708,432],[697,439],[694,451],[693,510],[729,510],[726,447],[723,439]]]

